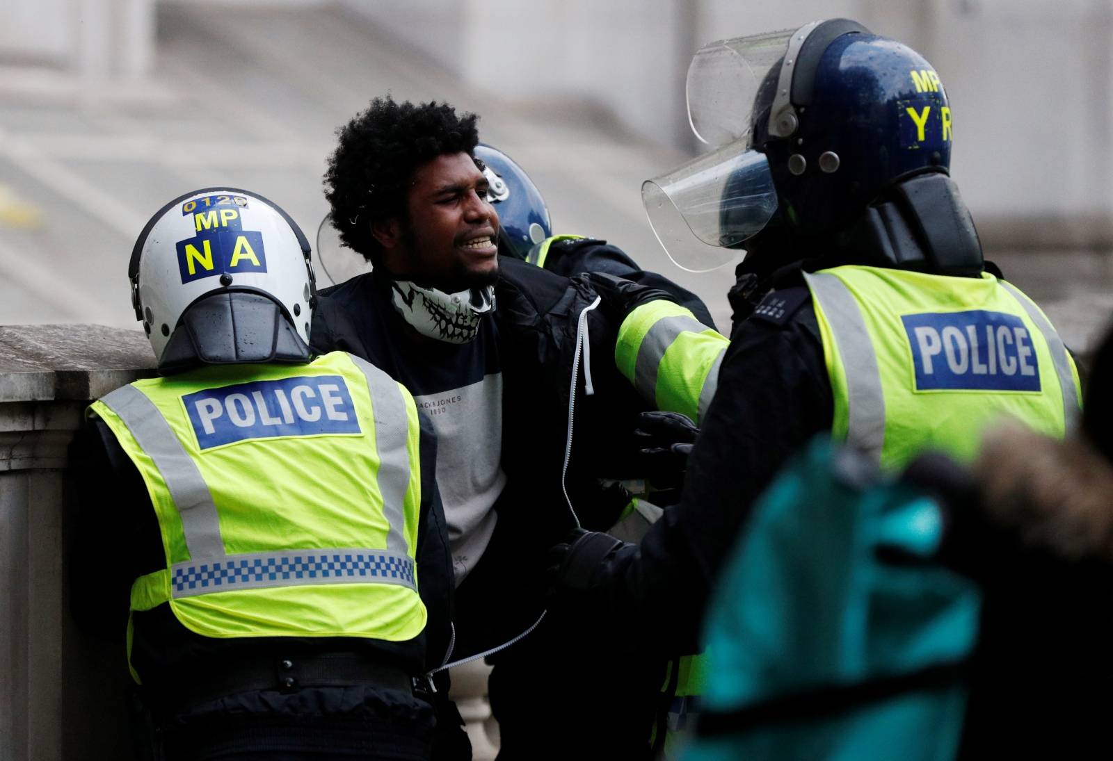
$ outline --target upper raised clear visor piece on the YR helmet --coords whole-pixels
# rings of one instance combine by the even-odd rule
[[[736,37],[699,49],[688,67],[688,121],[709,146],[725,146],[747,138],[754,102],[761,83],[777,67],[778,73],[791,29]]]

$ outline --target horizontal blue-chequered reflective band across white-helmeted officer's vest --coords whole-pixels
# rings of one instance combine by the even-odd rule
[[[414,562],[383,550],[283,550],[170,566],[170,595],[318,584],[398,584],[416,590]]]

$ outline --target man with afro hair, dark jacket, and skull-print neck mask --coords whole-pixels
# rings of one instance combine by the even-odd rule
[[[475,122],[387,96],[338,130],[326,196],[343,244],[373,271],[322,291],[312,343],[383,368],[436,431],[456,640],[431,658],[531,630],[489,659],[500,758],[649,758],[666,664],[637,643],[600,652],[571,616],[536,622],[548,547],[577,524],[613,525],[629,502],[600,486],[630,477],[617,471],[647,407],[614,364],[615,337],[636,306],[671,299],[499,256]]]

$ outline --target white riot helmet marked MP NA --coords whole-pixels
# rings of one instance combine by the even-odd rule
[[[128,277],[164,374],[311,359],[309,243],[263,196],[217,187],[174,199],[139,234]]]

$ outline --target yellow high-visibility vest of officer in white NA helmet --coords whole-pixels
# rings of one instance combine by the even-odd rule
[[[168,604],[213,638],[424,629],[417,409],[382,370],[342,352],[206,367],[89,411],[139,470],[162,536],[166,569],[135,581],[132,612]]]

